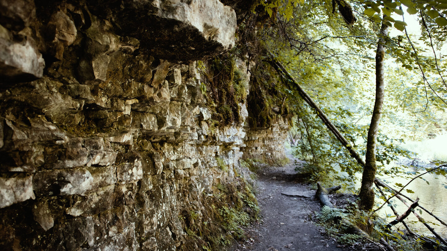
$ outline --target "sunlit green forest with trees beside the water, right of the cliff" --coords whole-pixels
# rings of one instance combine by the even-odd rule
[[[265,110],[292,116],[310,181],[337,180],[360,193],[366,212],[393,207],[397,190],[414,193],[401,183],[381,190],[376,177],[435,172],[445,181],[446,0],[266,0],[253,13],[252,26],[239,27],[246,47],[235,53],[256,62],[251,85]],[[417,153],[427,163],[409,170]]]

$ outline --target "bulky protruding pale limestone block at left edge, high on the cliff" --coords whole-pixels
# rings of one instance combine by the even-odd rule
[[[0,38],[0,77],[2,81],[42,78],[45,61],[32,38],[12,41]]]

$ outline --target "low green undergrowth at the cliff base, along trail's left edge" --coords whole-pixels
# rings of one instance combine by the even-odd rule
[[[241,177],[234,183],[217,184],[212,195],[202,195],[201,202],[201,215],[192,207],[179,215],[187,234],[179,250],[223,250],[233,240],[244,238],[243,228],[259,217],[253,188]]]

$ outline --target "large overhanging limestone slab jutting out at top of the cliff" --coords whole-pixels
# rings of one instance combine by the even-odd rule
[[[89,5],[92,12],[113,21],[119,35],[139,39],[144,49],[171,62],[202,59],[234,46],[236,13],[218,0],[135,0],[110,12],[98,8],[108,1],[95,3]]]

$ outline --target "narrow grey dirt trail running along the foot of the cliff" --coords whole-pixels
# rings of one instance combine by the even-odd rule
[[[247,230],[247,240],[233,245],[233,251],[349,250],[324,235],[324,228],[312,222],[312,212],[320,211],[320,203],[314,199],[315,190],[295,181],[295,173],[293,158],[285,167],[261,168],[257,200],[262,218]]]

